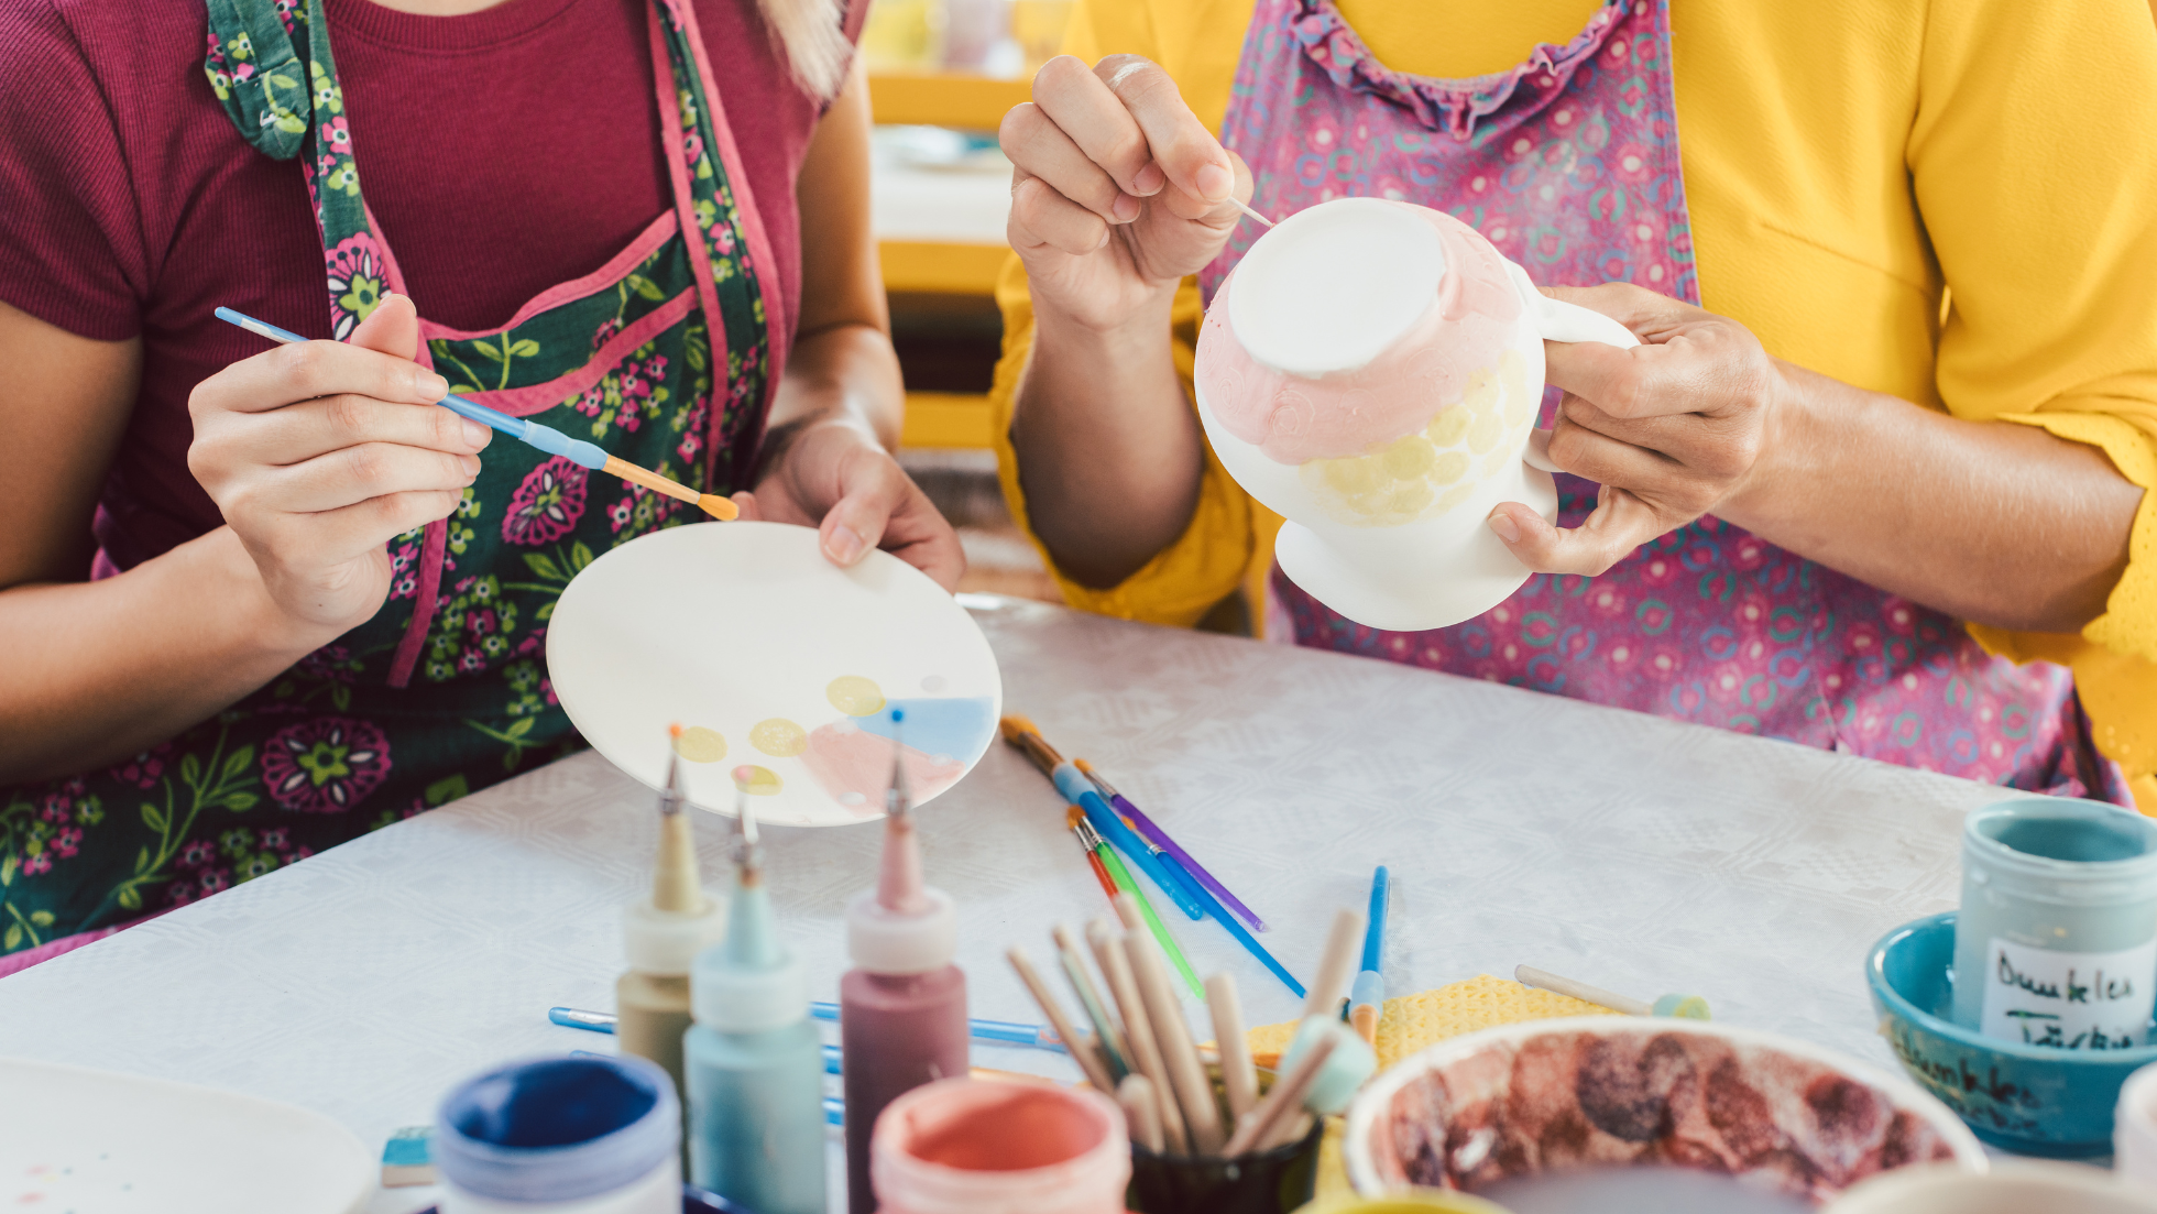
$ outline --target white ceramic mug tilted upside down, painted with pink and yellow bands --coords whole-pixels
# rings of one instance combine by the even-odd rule
[[[1493,507],[1557,518],[1531,442],[1544,341],[1639,345],[1447,213],[1335,198],[1266,231],[1221,282],[1199,420],[1236,483],[1288,518],[1290,580],[1370,627],[1445,627],[1529,576]]]

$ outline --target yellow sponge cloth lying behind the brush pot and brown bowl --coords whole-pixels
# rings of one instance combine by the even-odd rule
[[[1404,994],[1400,998],[1385,1001],[1385,1009],[1378,1013],[1378,1070],[1385,1070],[1400,1059],[1426,1050],[1447,1037],[1475,1033],[1478,1029],[1490,1029],[1495,1024],[1551,1020],[1553,1016],[1622,1013],[1572,998],[1570,994],[1555,994],[1521,985],[1516,981],[1495,979],[1490,975],[1475,975],[1469,981],[1456,981],[1421,994]],[[1260,1024],[1247,1035],[1251,1039],[1251,1061],[1262,1067],[1273,1067],[1279,1063],[1281,1050],[1286,1050],[1288,1041],[1296,1035],[1296,1022]],[[1348,1169],[1342,1164],[1342,1119],[1331,1117],[1329,1121],[1327,1141],[1318,1149],[1318,1201],[1352,1197],[1352,1190],[1348,1188]]]

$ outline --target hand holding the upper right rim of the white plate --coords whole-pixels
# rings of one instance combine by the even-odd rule
[[[966,554],[928,494],[874,438],[846,420],[815,420],[766,438],[764,477],[753,494],[733,494],[742,518],[818,528],[833,565],[854,565],[884,548],[947,591],[958,589]]]

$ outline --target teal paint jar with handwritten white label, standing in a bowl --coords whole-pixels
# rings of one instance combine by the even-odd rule
[[[1954,1020],[2060,1050],[2151,1041],[2157,1005],[2157,822],[2094,800],[2025,796],[1963,819]]]

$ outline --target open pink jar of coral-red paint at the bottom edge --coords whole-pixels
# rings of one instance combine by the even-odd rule
[[[876,1119],[869,1177],[882,1214],[1122,1214],[1130,1143],[1098,1091],[947,1078]]]

